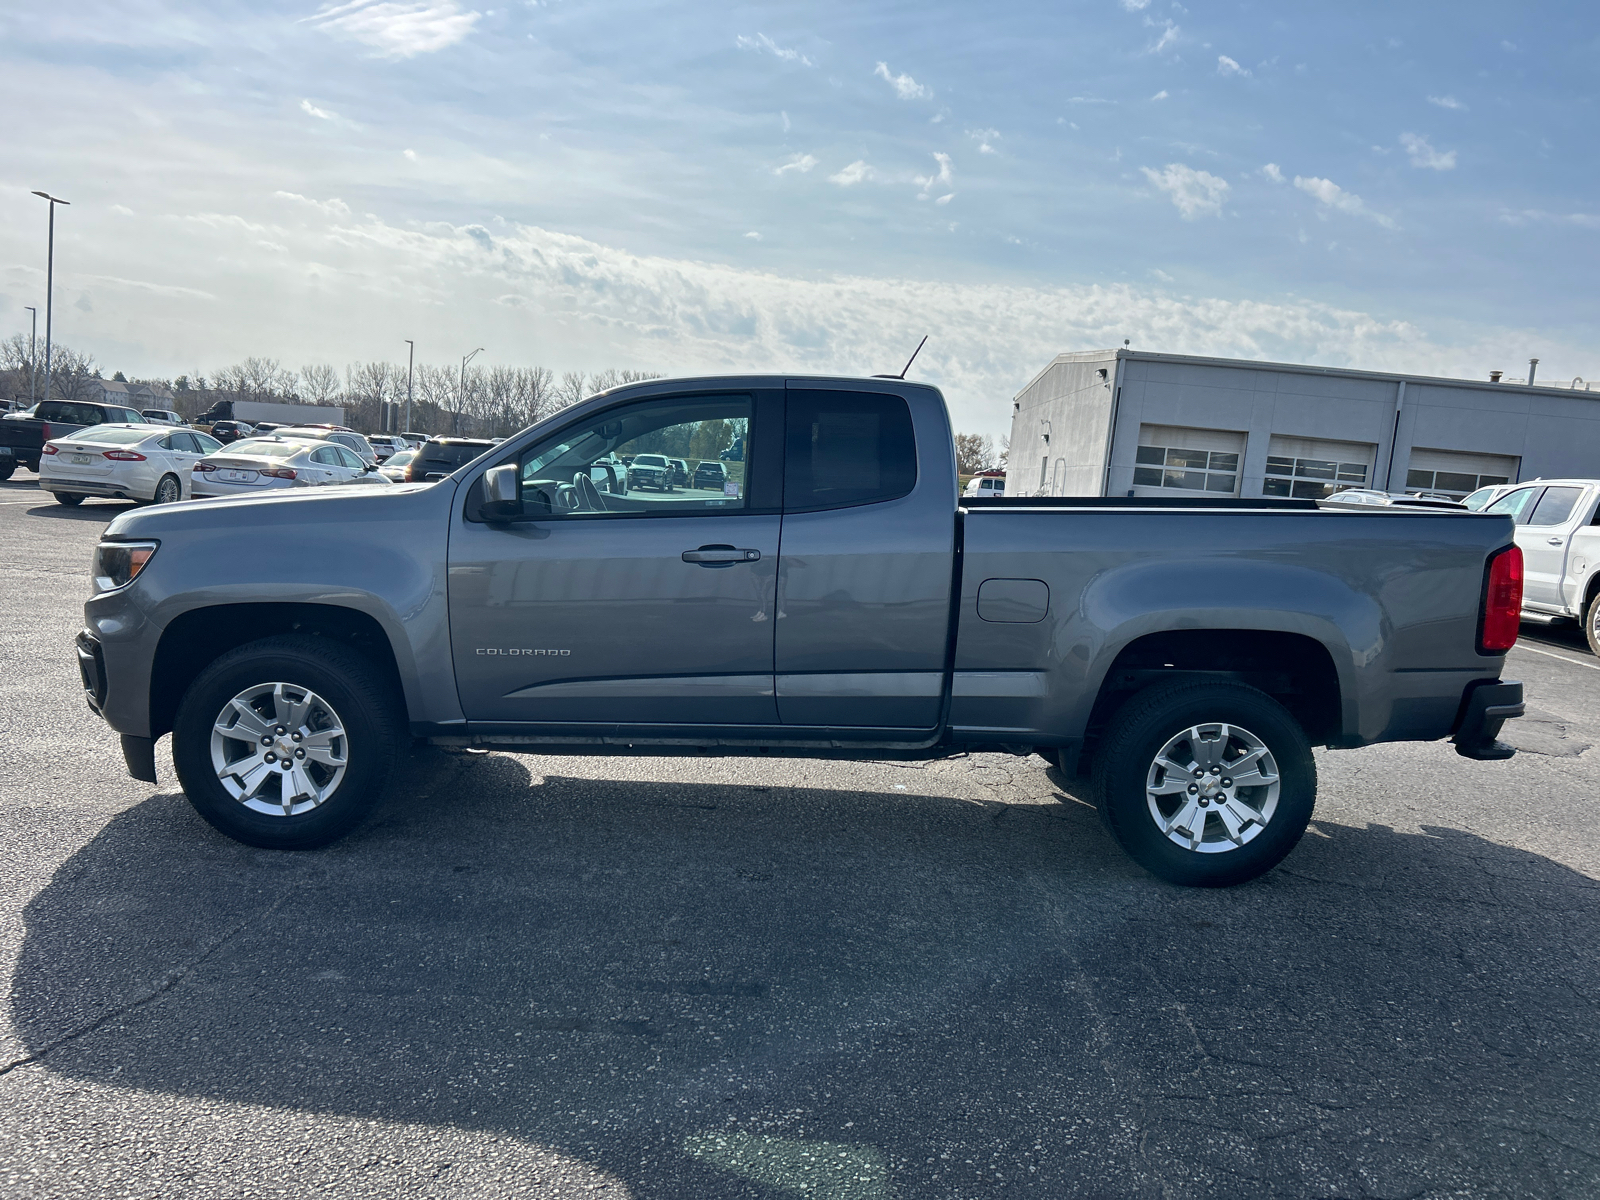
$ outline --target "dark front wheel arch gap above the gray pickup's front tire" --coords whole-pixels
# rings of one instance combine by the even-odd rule
[[[371,662],[405,704],[394,645],[370,613],[325,603],[230,603],[181,613],[162,630],[150,666],[150,738],[171,733],[189,685],[237,646],[277,634],[326,637]]]

